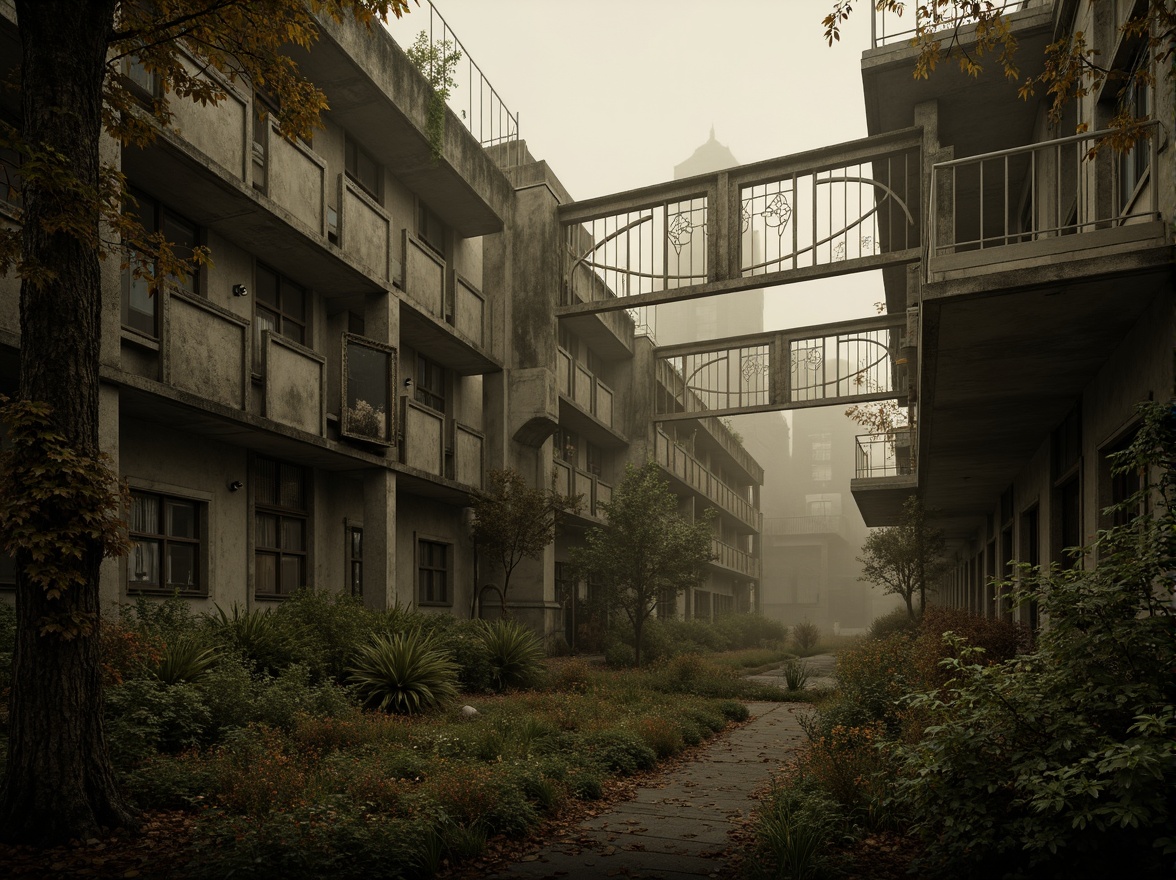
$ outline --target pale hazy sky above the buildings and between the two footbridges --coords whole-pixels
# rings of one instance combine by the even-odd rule
[[[574,199],[670,180],[715,128],[740,162],[866,135],[868,5],[826,46],[833,0],[434,0]],[[427,5],[390,25],[401,46]],[[881,278],[766,292],[764,327],[874,313]]]

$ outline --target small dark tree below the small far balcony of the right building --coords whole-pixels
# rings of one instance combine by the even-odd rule
[[[858,580],[882,587],[882,592],[907,604],[907,613],[915,619],[914,596],[918,595],[918,611],[927,606],[927,591],[947,569],[943,555],[943,533],[927,525],[923,502],[911,495],[902,506],[902,522],[873,532],[862,545],[862,575]]]

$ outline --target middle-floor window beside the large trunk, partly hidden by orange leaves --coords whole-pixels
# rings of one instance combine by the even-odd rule
[[[178,258],[191,260],[199,244],[195,224],[145,193],[132,189],[131,196],[134,204],[127,205],[127,213],[138,218],[143,233],[159,233],[172,244]],[[122,326],[146,336],[159,335],[156,275],[156,266],[147,254],[133,248],[128,251],[127,267],[122,271]],[[199,269],[193,267],[192,273],[186,275],[168,274],[163,282],[195,294],[199,292]]]

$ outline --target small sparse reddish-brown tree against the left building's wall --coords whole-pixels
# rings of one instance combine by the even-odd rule
[[[483,494],[472,495],[474,544],[502,566],[499,599],[507,613],[510,575],[524,559],[539,559],[555,540],[563,514],[580,508],[579,495],[532,488],[514,468],[490,471]],[[474,601],[477,599],[475,596]]]

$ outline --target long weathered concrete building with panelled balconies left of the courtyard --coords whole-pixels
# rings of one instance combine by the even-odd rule
[[[0,9],[13,64],[16,22]],[[220,106],[174,100],[173,128],[119,156],[148,231],[181,252],[206,245],[213,262],[159,292],[103,265],[101,438],[132,489],[134,544],[103,568],[106,607],[174,593],[253,606],[312,586],[468,616],[499,579],[475,571],[469,538],[489,468],[582,493],[583,528],[624,462],[662,448],[650,345],[628,314],[555,318],[561,296],[608,291],[569,268],[559,208],[572,200],[477,68],[462,88],[490,101],[448,112],[435,144],[434,93],[390,35],[329,16],[320,28],[298,55],[330,107],[313,141],[282,138],[276,108],[226,81]],[[145,100],[160,94],[153,74],[125,72]],[[15,222],[15,191],[4,195]],[[7,388],[18,294],[0,279]],[[664,464],[683,511],[723,511],[690,607],[749,607],[762,471],[700,425],[709,440],[687,465]],[[544,633],[564,626],[566,553],[512,584],[513,613]]]

